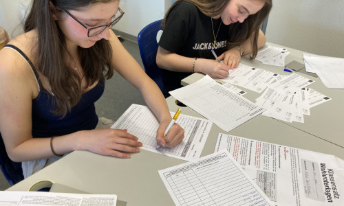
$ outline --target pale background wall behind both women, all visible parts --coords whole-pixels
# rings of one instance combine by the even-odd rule
[[[137,36],[149,23],[162,19],[175,0],[121,0],[125,16],[116,30]],[[11,35],[20,23],[18,3],[0,0],[0,27]],[[273,0],[266,37],[271,43],[305,52],[344,58],[343,0]],[[2,13],[2,14],[1,14]]]

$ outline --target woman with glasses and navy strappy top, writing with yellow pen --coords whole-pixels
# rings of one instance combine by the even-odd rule
[[[94,102],[114,69],[136,87],[160,121],[157,144],[184,138],[164,96],[110,30],[122,18],[119,0],[33,0],[24,34],[0,51],[0,133],[23,174],[73,150],[130,158],[142,143],[127,130],[95,129]],[[120,98],[120,97],[118,97]],[[111,125],[110,125],[111,126]]]

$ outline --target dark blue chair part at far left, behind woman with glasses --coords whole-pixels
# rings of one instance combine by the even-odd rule
[[[5,144],[0,134],[0,168],[3,176],[7,179],[10,185],[19,183],[24,179],[23,170],[21,169],[20,162],[14,162],[10,160],[7,155]]]

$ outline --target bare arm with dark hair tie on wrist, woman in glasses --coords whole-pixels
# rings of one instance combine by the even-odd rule
[[[20,47],[17,45],[17,47]],[[50,137],[32,138],[32,99],[39,89],[28,63],[12,49],[0,51],[0,132],[12,161],[30,161],[54,156]],[[55,137],[53,147],[63,155],[90,150],[101,155],[129,158],[122,152],[139,152],[138,138],[126,130],[83,130]]]

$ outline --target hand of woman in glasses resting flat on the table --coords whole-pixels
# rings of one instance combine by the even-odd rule
[[[89,150],[100,155],[119,158],[130,158],[129,153],[140,152],[142,143],[138,137],[131,135],[127,130],[103,128],[80,131],[82,145],[80,149]]]

